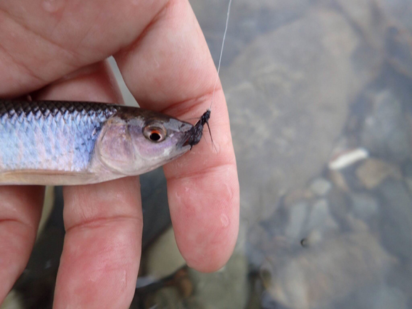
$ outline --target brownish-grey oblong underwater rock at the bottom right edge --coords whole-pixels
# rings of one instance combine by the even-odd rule
[[[285,264],[269,260],[264,281],[287,308],[333,308],[360,288],[382,282],[393,262],[371,234],[348,234],[303,248]]]

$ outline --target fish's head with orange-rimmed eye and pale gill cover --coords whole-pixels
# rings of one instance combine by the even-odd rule
[[[171,116],[140,110],[138,116],[117,115],[100,134],[99,160],[124,175],[140,175],[188,151],[192,124]]]

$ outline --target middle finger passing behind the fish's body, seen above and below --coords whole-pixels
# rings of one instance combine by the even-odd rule
[[[43,90],[41,99],[113,102],[106,64]],[[138,178],[64,188],[65,244],[54,308],[129,308],[141,255],[142,214]]]

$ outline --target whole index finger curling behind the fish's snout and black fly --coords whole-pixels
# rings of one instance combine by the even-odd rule
[[[187,0],[170,0],[139,40],[115,58],[142,107],[189,119],[210,106],[217,73]],[[165,166],[176,241],[188,264],[200,271],[224,265],[239,229],[239,183],[220,85],[210,127],[217,153],[201,141]]]

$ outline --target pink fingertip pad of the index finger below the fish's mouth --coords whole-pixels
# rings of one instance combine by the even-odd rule
[[[239,182],[234,165],[170,180],[170,215],[180,253],[193,269],[227,263],[239,233]]]

